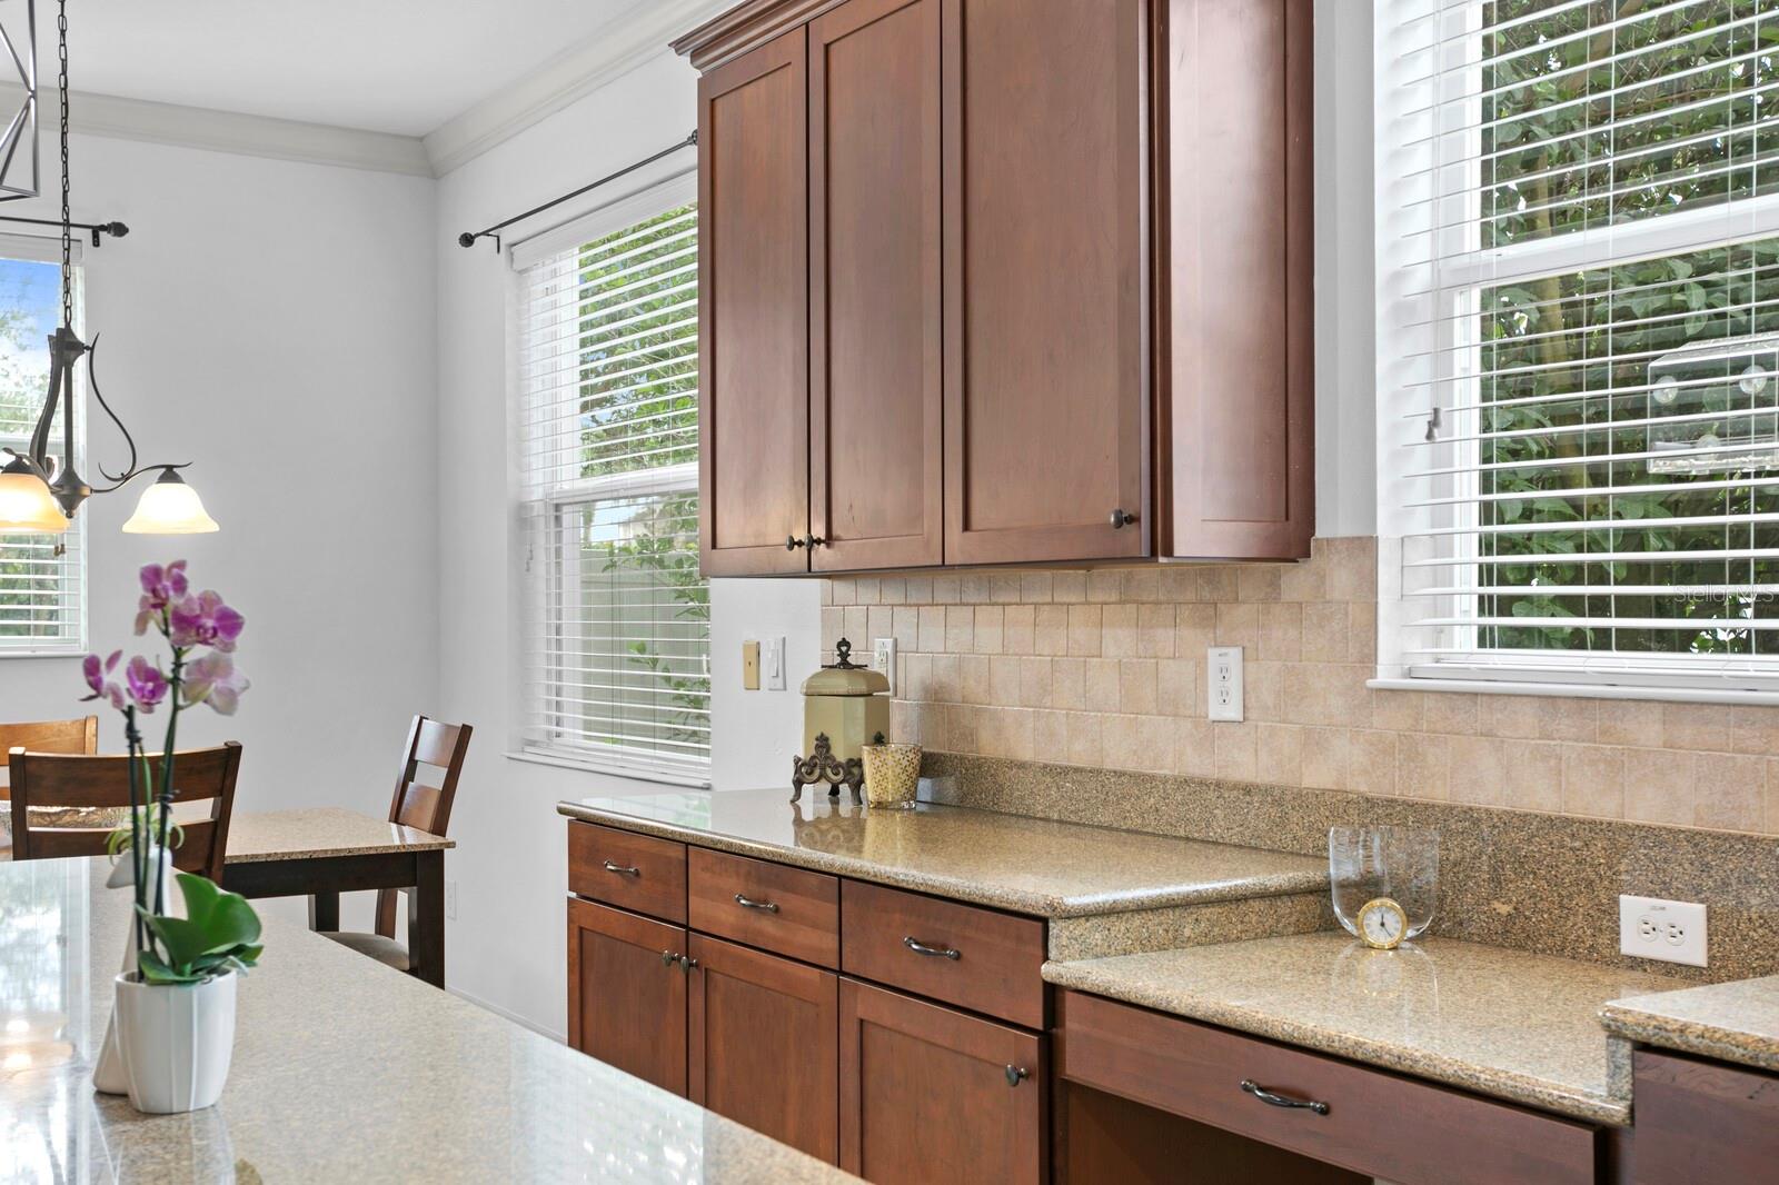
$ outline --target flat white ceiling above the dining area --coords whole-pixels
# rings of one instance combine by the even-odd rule
[[[78,0],[69,85],[425,135],[656,0]],[[55,85],[55,4],[37,4]]]

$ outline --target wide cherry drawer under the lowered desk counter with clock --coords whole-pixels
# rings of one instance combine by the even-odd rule
[[[1594,1181],[1583,1123],[1076,991],[1057,1007],[1069,1082],[1400,1185]],[[1244,1082],[1327,1108],[1267,1105]]]

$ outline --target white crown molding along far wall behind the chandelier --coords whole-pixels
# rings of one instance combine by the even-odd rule
[[[0,85],[0,96],[14,100],[14,96],[23,96],[23,89]],[[238,157],[432,176],[432,162],[427,158],[425,146],[413,135],[334,128],[324,123],[247,116],[208,107],[75,91],[68,103],[68,126],[84,135],[101,135],[114,141],[178,144]],[[44,128],[53,132],[50,123],[44,123]]]

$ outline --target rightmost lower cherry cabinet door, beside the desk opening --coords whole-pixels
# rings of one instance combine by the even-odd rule
[[[1042,1039],[840,980],[840,1167],[877,1185],[1046,1174]]]

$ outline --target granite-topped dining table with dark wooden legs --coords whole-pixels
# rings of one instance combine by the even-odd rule
[[[178,818],[178,815],[174,815]],[[441,834],[340,806],[235,811],[222,854],[222,888],[242,897],[308,897],[310,929],[340,929],[340,893],[407,893],[407,961],[415,977],[445,986],[445,852]],[[0,859],[11,859],[11,834]]]

